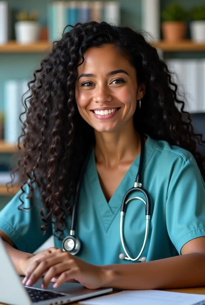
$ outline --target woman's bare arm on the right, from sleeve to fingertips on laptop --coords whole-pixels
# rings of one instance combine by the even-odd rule
[[[181,256],[146,263],[96,266],[58,249],[36,260],[28,269],[23,284],[32,286],[45,274],[42,288],[49,282],[78,281],[89,289],[166,289],[205,286],[205,237],[182,247]]]

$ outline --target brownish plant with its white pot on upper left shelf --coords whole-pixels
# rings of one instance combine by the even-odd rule
[[[16,41],[20,44],[28,44],[39,40],[40,26],[38,23],[38,13],[20,11],[16,15],[15,23]]]

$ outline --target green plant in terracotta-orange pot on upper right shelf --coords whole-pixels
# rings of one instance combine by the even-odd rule
[[[161,13],[162,35],[167,41],[175,42],[185,38],[187,11],[178,3],[167,5],[166,10]]]

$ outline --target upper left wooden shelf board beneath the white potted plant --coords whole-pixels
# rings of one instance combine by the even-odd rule
[[[51,51],[52,43],[38,41],[29,45],[20,45],[11,40],[5,45],[0,45],[0,53],[41,53]]]

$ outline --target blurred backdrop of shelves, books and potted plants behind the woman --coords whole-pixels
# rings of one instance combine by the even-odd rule
[[[186,110],[205,113],[205,0],[0,1],[0,210],[19,190],[18,177],[11,193],[5,184],[17,164],[27,81],[67,24],[91,20],[150,33],[146,39],[176,72]]]

